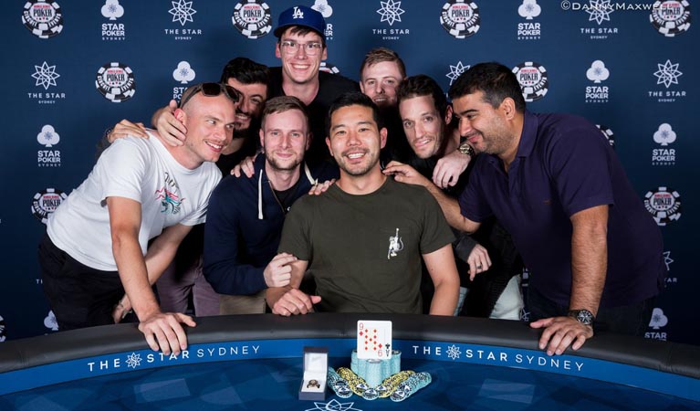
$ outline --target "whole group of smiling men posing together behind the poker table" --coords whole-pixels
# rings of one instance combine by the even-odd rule
[[[466,70],[450,105],[377,48],[358,88],[319,70],[324,27],[291,7],[275,30],[280,68],[235,58],[220,83],[157,111],[158,132],[115,127],[39,248],[61,330],[133,310],[153,350],[179,353],[181,323],[195,326],[190,289],[197,315],[517,320],[519,254],[549,354],[594,327],[643,332],[665,273],[661,235],[593,125],[527,111],[497,63]],[[236,163],[246,175],[228,175]]]

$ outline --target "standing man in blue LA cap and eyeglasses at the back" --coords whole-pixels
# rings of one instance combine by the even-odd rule
[[[275,56],[282,66],[270,68],[270,97],[294,96],[307,105],[311,146],[307,160],[316,163],[330,158],[324,143],[326,114],[330,104],[346,91],[357,91],[354,81],[320,71],[328,58],[323,16],[305,5],[295,5],[279,15]]]

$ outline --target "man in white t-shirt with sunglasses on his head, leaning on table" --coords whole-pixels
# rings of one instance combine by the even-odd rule
[[[219,83],[185,90],[175,111],[187,127],[184,145],[114,142],[49,218],[39,262],[60,330],[119,322],[133,308],[153,350],[187,347],[180,323],[194,326],[193,319],[162,312],[151,284],[191,227],[204,223],[221,179],[214,162],[231,142],[237,101],[237,92]]]

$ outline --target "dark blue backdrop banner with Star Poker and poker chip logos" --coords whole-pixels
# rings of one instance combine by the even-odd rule
[[[358,79],[372,47],[446,91],[481,61],[512,67],[531,111],[596,123],[663,232],[669,269],[647,338],[700,344],[700,45],[691,1],[29,0],[0,22],[0,341],[56,331],[37,244],[89,174],[105,129],[151,113],[238,56],[269,66],[291,5],[326,18],[323,69]],[[695,157],[694,157],[695,156]],[[116,167],[119,164],[115,164]],[[526,272],[526,277],[528,273]],[[533,273],[533,275],[536,275]]]

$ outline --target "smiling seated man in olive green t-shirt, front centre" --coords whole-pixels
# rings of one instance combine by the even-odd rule
[[[359,92],[329,110],[329,152],[340,179],[322,195],[297,201],[285,221],[279,251],[297,258],[291,283],[270,288],[267,304],[280,315],[314,310],[422,313],[421,256],[434,281],[431,314],[452,315],[459,293],[452,232],[423,187],[381,174],[386,142],[377,106]],[[298,290],[305,272],[316,295]]]

